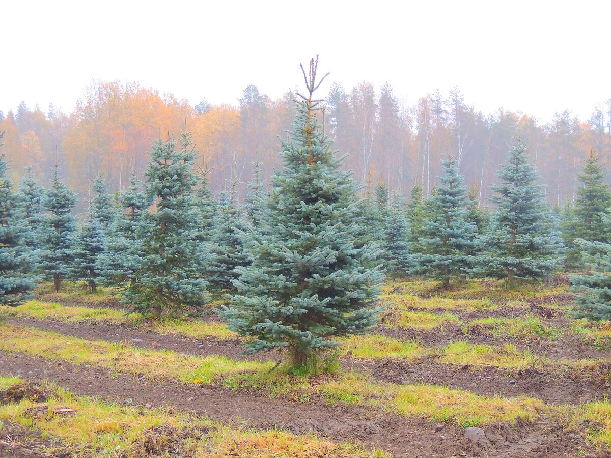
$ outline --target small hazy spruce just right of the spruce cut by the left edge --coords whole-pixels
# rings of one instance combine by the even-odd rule
[[[19,194],[25,211],[24,223],[27,230],[24,243],[32,250],[39,250],[40,234],[42,232],[42,204],[45,197],[45,188],[40,186],[34,178],[34,167],[26,167],[26,174],[19,183]]]

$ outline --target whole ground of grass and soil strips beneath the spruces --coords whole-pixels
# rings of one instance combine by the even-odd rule
[[[611,326],[557,285],[388,282],[315,376],[243,354],[214,312],[152,321],[81,285],[2,307],[12,456],[604,456]]]

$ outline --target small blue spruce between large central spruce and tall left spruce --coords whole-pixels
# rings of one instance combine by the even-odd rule
[[[251,263],[244,239],[248,228],[236,205],[235,184],[234,181],[230,197],[221,194],[214,219],[214,234],[210,244],[212,256],[205,277],[210,282],[210,289],[216,293],[235,292],[233,280],[237,280],[239,274],[234,269]]]

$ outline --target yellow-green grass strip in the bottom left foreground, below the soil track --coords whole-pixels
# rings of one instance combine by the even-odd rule
[[[235,454],[252,458],[389,456],[382,451],[364,451],[354,444],[335,444],[312,435],[255,431],[237,425],[228,427],[194,415],[104,403],[75,396],[47,383],[38,387],[19,379],[0,377],[0,391],[5,395],[20,394],[17,399],[8,399],[0,405],[0,434],[5,429],[2,422],[10,421],[23,429],[22,440],[17,435],[13,445],[35,447],[50,456],[56,452],[92,458],[166,454],[191,457]],[[45,441],[32,444],[32,435],[25,441],[26,432],[40,432]]]

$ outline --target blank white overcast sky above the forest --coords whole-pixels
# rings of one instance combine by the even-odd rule
[[[272,98],[320,54],[321,88],[360,81],[413,102],[458,85],[469,104],[543,122],[611,98],[610,1],[28,1],[1,7],[0,109],[71,111],[92,79],[197,103]]]

